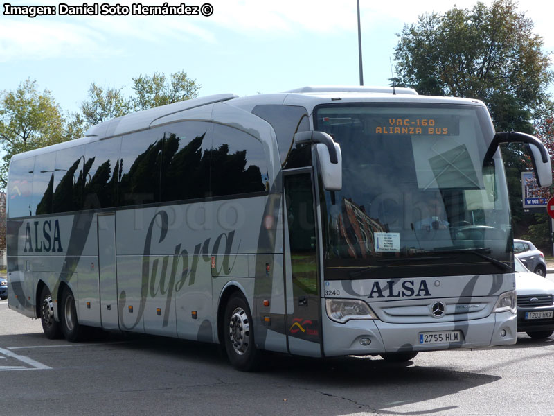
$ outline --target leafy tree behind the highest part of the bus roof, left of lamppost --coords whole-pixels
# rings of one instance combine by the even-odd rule
[[[133,78],[135,92],[132,102],[135,110],[146,110],[178,101],[196,98],[201,85],[188,78],[185,71],[172,73],[166,80],[163,73],[154,72],[149,76],[139,75]]]

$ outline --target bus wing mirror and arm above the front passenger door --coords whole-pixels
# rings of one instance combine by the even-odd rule
[[[294,135],[296,144],[315,144],[323,188],[327,191],[342,189],[341,146],[325,132],[298,132]],[[334,195],[331,196],[334,200]]]

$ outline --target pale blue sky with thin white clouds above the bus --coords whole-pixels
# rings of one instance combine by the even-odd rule
[[[64,112],[79,110],[91,83],[123,88],[131,96],[132,78],[152,76],[154,71],[166,76],[185,71],[202,86],[199,96],[359,85],[356,0],[191,0],[186,4],[208,12],[210,8],[202,6],[209,1],[211,15],[129,12],[34,18],[6,15],[6,1],[0,12],[0,91],[16,89],[30,78],[41,91],[50,90]],[[66,0],[65,4],[84,1]],[[129,8],[132,3],[119,1]],[[391,78],[391,59],[404,24],[415,23],[425,12],[445,12],[454,4],[472,8],[476,1],[359,3],[364,85],[381,86]],[[60,3],[15,0],[10,4],[55,6],[58,12]],[[101,6],[102,0],[96,4]],[[553,52],[554,2],[520,0],[519,11],[533,20],[535,33],[544,38],[544,50]]]

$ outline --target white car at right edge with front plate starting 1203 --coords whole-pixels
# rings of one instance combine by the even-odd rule
[[[548,338],[554,332],[554,283],[530,272],[515,257],[517,331],[531,338]]]

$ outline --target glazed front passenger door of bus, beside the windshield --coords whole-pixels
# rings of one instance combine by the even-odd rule
[[[310,169],[283,172],[285,187],[285,288],[287,340],[291,354],[321,356],[321,296],[316,252],[316,216]]]

